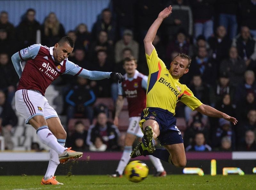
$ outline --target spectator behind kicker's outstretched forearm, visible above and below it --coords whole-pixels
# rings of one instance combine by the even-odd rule
[[[97,52],[97,62],[92,64],[91,70],[98,70],[104,72],[111,72],[113,70],[113,63],[108,61],[108,55],[106,51],[99,50]],[[91,83],[92,89],[94,90],[97,97],[110,97],[111,91],[111,80],[103,79],[93,81]]]

